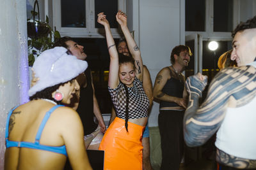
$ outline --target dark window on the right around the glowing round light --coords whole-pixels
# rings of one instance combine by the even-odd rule
[[[231,50],[231,31],[238,23],[239,1],[234,0],[186,0],[186,45],[191,47],[193,56],[186,69],[186,76],[198,71],[208,76],[208,80],[218,73],[220,55]],[[196,35],[196,41],[189,36]],[[210,41],[217,41],[219,48],[212,52],[208,49]],[[197,60],[194,60],[197,59]],[[194,62],[195,61],[195,62]]]

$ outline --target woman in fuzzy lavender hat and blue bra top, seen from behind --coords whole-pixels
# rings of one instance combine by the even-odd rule
[[[4,169],[92,169],[83,140],[83,125],[70,104],[79,85],[76,76],[86,61],[67,49],[45,50],[33,69],[39,78],[29,89],[29,101],[13,108],[6,121]]]

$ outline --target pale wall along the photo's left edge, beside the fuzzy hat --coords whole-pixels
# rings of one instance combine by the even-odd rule
[[[26,1],[0,5],[0,169],[3,169],[4,132],[8,111],[28,100]],[[25,80],[25,81],[24,81]]]

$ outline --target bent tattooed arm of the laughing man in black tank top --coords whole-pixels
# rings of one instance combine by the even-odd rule
[[[186,108],[186,99],[185,98],[179,98],[174,96],[168,96],[167,94],[164,94],[162,92],[164,85],[166,84],[166,81],[171,78],[170,76],[170,69],[168,67],[164,67],[159,71],[159,73],[156,76],[154,89],[153,89],[153,96],[155,99],[158,99],[160,101],[167,101],[167,102],[175,102],[179,104],[179,106],[182,106],[183,108]],[[184,97],[186,95],[184,94]]]

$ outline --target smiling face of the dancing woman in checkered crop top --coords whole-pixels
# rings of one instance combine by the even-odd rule
[[[134,64],[125,62],[119,66],[119,79],[127,87],[132,87],[135,78]]]

